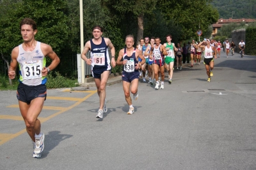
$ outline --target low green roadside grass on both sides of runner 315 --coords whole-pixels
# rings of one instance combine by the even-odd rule
[[[73,88],[79,86],[77,80],[68,79],[63,77],[58,72],[51,72],[47,75],[46,86],[48,89],[54,88]],[[17,90],[19,85],[19,79],[16,77],[12,80],[13,85],[9,84],[9,78],[7,76],[0,75],[0,90]]]

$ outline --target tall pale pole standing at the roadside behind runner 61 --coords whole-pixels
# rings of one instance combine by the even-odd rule
[[[80,6],[80,43],[81,43],[81,54],[84,49],[84,23],[83,23],[83,0],[79,0]],[[85,75],[84,75],[84,60],[81,58],[81,78],[82,83],[84,83]]]

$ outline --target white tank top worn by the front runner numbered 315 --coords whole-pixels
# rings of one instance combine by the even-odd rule
[[[42,77],[46,58],[41,50],[40,42],[37,42],[35,49],[29,52],[25,51],[20,44],[17,61],[20,69],[20,82],[28,86],[38,86],[47,82],[46,77]]]

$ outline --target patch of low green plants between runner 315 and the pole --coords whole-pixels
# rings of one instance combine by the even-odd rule
[[[52,72],[47,75],[47,88],[72,88],[79,86],[78,82],[76,80],[70,80],[66,77],[63,77],[58,72],[54,72],[55,77],[52,76]]]

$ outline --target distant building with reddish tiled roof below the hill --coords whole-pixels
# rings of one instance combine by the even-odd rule
[[[218,33],[218,29],[220,29],[225,24],[237,23],[240,24],[241,22],[245,22],[246,24],[251,22],[256,22],[256,19],[218,19],[216,24],[212,24],[212,37],[216,36]]]

